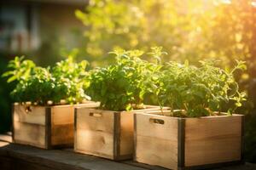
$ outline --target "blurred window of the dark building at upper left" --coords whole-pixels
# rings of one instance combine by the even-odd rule
[[[33,5],[1,5],[0,50],[26,52],[37,49],[38,8]]]

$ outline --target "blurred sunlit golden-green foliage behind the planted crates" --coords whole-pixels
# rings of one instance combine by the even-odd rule
[[[236,79],[248,100],[237,112],[246,114],[246,159],[256,162],[256,2],[90,0],[84,10],[74,11],[74,17],[84,24],[84,31],[73,31],[79,45],[66,48],[53,34],[33,53],[40,65],[52,65],[59,56],[73,53],[93,68],[111,63],[108,52],[113,49],[148,51],[152,46],[162,46],[168,53],[164,61],[188,59],[198,65],[200,59],[217,59],[222,68],[235,65],[235,59],[247,61],[247,71],[238,73]],[[6,58],[1,59],[1,72],[6,63]],[[11,87],[0,81],[2,133],[9,130]]]

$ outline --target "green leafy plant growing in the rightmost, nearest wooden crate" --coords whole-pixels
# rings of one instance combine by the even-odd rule
[[[227,104],[228,113],[232,114],[245,100],[233,74],[244,69],[246,65],[241,61],[237,61],[232,71],[224,71],[211,61],[201,61],[199,67],[189,65],[188,61],[184,65],[169,62],[161,71],[155,95],[161,106],[172,109],[172,116],[210,116],[214,111],[223,111],[223,105]]]

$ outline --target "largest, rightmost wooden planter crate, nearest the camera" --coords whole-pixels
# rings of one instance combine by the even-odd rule
[[[135,114],[134,160],[170,169],[243,162],[244,116],[178,118]]]

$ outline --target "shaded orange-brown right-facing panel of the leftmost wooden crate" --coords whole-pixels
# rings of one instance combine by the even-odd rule
[[[73,122],[74,106],[73,105],[56,105],[50,108],[51,111],[51,137],[50,144],[72,145],[73,144]]]

